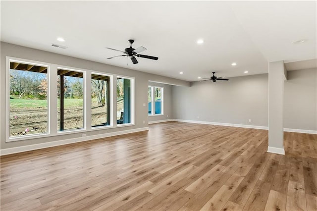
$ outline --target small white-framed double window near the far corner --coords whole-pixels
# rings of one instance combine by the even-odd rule
[[[148,88],[149,115],[163,114],[163,88],[149,86]]]

